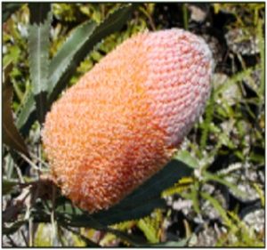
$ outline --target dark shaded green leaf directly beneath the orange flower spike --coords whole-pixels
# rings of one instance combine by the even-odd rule
[[[58,202],[57,213],[67,216],[68,223],[73,227],[92,227],[101,230],[110,224],[140,219],[150,214],[155,208],[165,207],[166,202],[161,198],[163,190],[174,185],[184,176],[189,176],[192,168],[180,161],[172,160],[164,169],[160,170],[150,180],[134,190],[132,194],[124,198],[119,204],[96,214],[88,214],[79,211],[75,214],[72,209],[62,211],[61,202]],[[64,201],[64,200],[62,200]],[[61,211],[61,213],[59,213]]]

